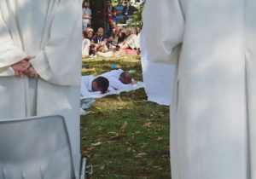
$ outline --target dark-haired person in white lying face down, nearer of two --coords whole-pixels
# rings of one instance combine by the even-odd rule
[[[100,91],[102,94],[108,91],[109,81],[104,77],[94,77],[93,75],[81,77],[80,94],[88,96],[90,92]]]

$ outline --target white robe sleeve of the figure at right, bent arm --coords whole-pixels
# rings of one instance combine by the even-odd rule
[[[147,0],[143,34],[152,61],[176,63],[183,41],[184,18],[178,0]]]

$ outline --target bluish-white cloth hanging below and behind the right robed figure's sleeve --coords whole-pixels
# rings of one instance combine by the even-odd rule
[[[174,66],[152,61],[144,42],[145,39],[143,33],[141,33],[143,82],[146,94],[148,95],[148,101],[154,101],[160,105],[170,105],[172,101]]]

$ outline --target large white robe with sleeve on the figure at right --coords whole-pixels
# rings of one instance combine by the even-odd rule
[[[256,179],[255,8],[255,0],[145,5],[149,55],[177,67],[172,179]]]

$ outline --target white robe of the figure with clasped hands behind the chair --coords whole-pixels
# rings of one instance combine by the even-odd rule
[[[0,1],[0,119],[61,114],[79,176],[79,0]],[[27,55],[38,80],[16,78],[10,65]]]

